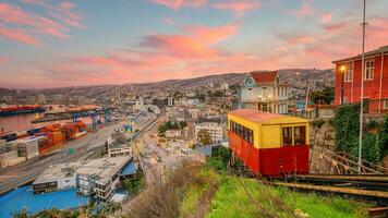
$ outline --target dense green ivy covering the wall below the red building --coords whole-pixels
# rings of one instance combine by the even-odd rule
[[[360,104],[338,107],[332,119],[336,130],[336,150],[353,156],[359,154]],[[379,162],[388,152],[388,117],[383,123],[375,120],[365,123],[363,135],[363,158]]]

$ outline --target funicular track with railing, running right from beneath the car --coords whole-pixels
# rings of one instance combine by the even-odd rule
[[[262,181],[298,190],[354,195],[388,206],[388,169],[363,161],[359,172],[356,157],[345,153],[323,153],[319,155],[319,165],[323,161],[330,167],[319,173],[265,178]]]

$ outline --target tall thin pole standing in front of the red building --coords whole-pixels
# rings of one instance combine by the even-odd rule
[[[365,8],[366,0],[364,0],[363,8],[363,48],[361,55],[361,97],[360,97],[360,135],[359,135],[359,174],[361,174],[361,166],[362,166],[362,144],[363,144],[363,112],[364,112],[364,74],[365,74],[365,26],[367,23],[365,22]]]

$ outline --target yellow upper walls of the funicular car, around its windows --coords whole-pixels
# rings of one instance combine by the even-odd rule
[[[283,126],[306,126],[306,144],[310,145],[310,126],[308,121],[301,118],[282,116],[279,118],[266,120],[263,123],[255,123],[232,114],[228,114],[228,129],[230,130],[230,122],[232,120],[254,132],[254,146],[256,148],[275,148],[282,145],[281,130]],[[292,129],[293,135],[293,129]]]

